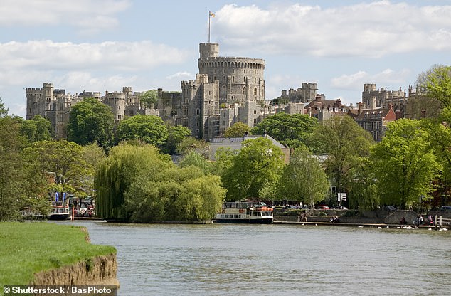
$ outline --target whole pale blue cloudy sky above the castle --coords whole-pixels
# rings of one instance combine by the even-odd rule
[[[43,83],[181,91],[198,73],[208,11],[219,56],[265,60],[267,100],[312,82],[356,105],[364,83],[405,90],[451,64],[450,0],[1,0],[1,100],[25,117],[25,88]]]

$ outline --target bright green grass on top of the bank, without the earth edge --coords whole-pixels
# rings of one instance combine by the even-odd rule
[[[0,223],[0,286],[26,285],[34,273],[116,253],[92,245],[85,228],[54,223]]]

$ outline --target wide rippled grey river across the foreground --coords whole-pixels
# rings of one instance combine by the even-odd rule
[[[451,230],[91,221],[118,295],[451,295]]]

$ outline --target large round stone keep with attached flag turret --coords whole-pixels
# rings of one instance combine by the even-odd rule
[[[265,101],[265,60],[218,56],[218,43],[200,43],[199,52],[199,73],[210,83],[218,80],[220,104]]]

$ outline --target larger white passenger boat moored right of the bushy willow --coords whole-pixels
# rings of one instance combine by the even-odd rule
[[[262,202],[230,201],[216,214],[218,223],[272,223],[272,207]]]

